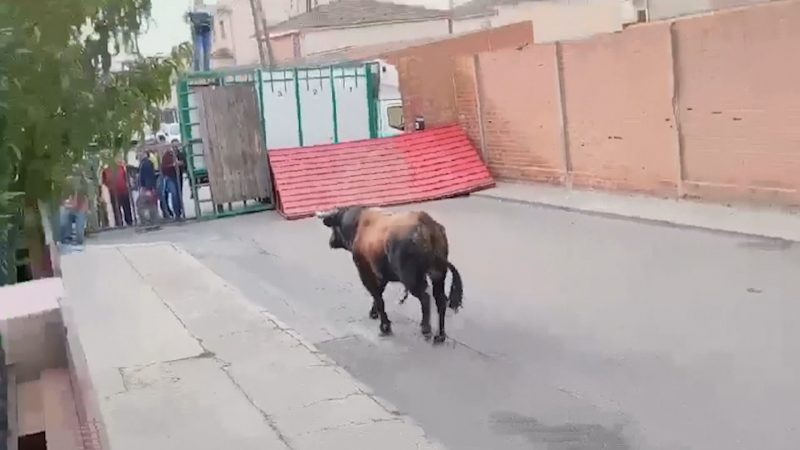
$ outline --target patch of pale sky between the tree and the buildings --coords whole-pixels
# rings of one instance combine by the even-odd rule
[[[168,54],[172,47],[191,39],[189,25],[183,15],[191,9],[192,0],[152,0],[153,22],[147,33],[139,37],[139,50],[144,56]],[[206,1],[206,3],[211,3]],[[216,2],[214,2],[216,3]]]

